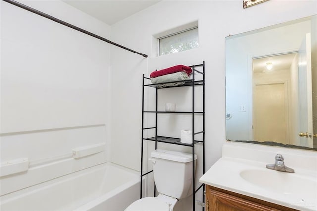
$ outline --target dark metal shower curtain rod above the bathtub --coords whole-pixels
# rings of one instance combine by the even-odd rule
[[[130,51],[130,52],[133,52],[133,53],[137,53],[137,54],[139,54],[139,55],[142,55],[142,56],[145,57],[145,58],[148,57],[148,55],[146,55],[146,54],[139,53],[139,52],[134,51],[134,50],[132,50],[132,49],[129,49],[129,48],[125,47],[125,46],[122,46],[122,45],[120,45],[120,44],[114,43],[114,42],[112,42],[112,41],[110,41],[110,40],[107,40],[106,38],[103,38],[103,37],[101,37],[101,36],[98,36],[98,35],[96,35],[96,34],[93,34],[93,33],[89,32],[89,31],[86,31],[86,30],[84,30],[84,29],[82,29],[82,28],[79,28],[79,27],[77,27],[77,26],[74,26],[74,25],[72,25],[72,24],[70,24],[70,23],[67,23],[67,22],[62,21],[62,20],[60,20],[60,19],[57,19],[57,18],[55,18],[55,17],[53,17],[53,16],[51,16],[51,15],[48,15],[48,14],[46,14],[46,13],[40,12],[40,11],[38,11],[38,10],[36,10],[36,9],[33,9],[32,7],[26,6],[26,5],[24,5],[24,4],[22,4],[22,3],[19,3],[19,2],[17,2],[17,1],[14,1],[14,0],[3,0],[3,1],[5,1],[5,2],[7,2],[7,3],[10,3],[10,4],[13,4],[13,5],[15,5],[15,6],[18,6],[18,7],[22,8],[22,9],[28,10],[28,11],[30,11],[30,12],[33,12],[33,13],[35,13],[35,14],[38,14],[38,15],[40,15],[40,16],[42,16],[42,17],[48,18],[48,19],[50,19],[50,20],[53,20],[53,21],[55,21],[55,22],[57,22],[57,23],[60,23],[60,24],[62,24],[62,25],[64,25],[64,26],[68,26],[68,27],[70,27],[70,28],[72,28],[72,29],[75,29],[75,30],[77,30],[77,31],[80,31],[80,32],[82,32],[82,33],[85,33],[85,34],[87,34],[87,35],[90,35],[90,36],[92,36],[92,37],[95,37],[95,38],[97,38],[97,39],[99,39],[99,40],[102,40],[102,41],[105,41],[105,42],[107,42],[107,43],[110,43],[110,44],[115,45],[115,46],[117,46],[117,47],[120,47],[120,48],[122,48],[122,49],[125,49],[125,50],[128,50],[128,51]]]

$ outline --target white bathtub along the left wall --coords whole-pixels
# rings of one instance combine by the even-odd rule
[[[1,196],[1,211],[123,211],[139,198],[139,173],[104,163]]]

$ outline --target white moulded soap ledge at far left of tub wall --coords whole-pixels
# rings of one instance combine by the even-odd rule
[[[27,171],[29,169],[28,158],[16,159],[1,163],[0,176],[7,176],[15,173]]]

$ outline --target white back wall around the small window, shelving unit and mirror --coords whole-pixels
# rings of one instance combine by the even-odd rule
[[[143,58],[111,47],[112,161],[140,169],[142,74],[205,60],[206,168],[211,167],[226,139],[225,37],[316,13],[316,1],[271,0],[246,9],[240,0],[162,1],[112,25],[114,42],[149,55]],[[156,56],[153,35],[197,20],[198,48]]]

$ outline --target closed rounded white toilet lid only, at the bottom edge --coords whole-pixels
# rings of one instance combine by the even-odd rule
[[[155,197],[145,197],[133,202],[125,211],[169,211],[169,206]]]

